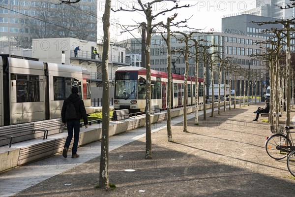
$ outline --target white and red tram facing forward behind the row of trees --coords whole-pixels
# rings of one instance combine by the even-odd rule
[[[116,71],[114,109],[129,109],[130,112],[145,111],[147,71],[143,67],[126,66]],[[151,70],[150,105],[167,108],[166,72]],[[195,104],[195,77],[188,77],[187,105]],[[204,79],[198,78],[199,102],[203,102]],[[172,74],[172,108],[183,106],[184,76]]]

